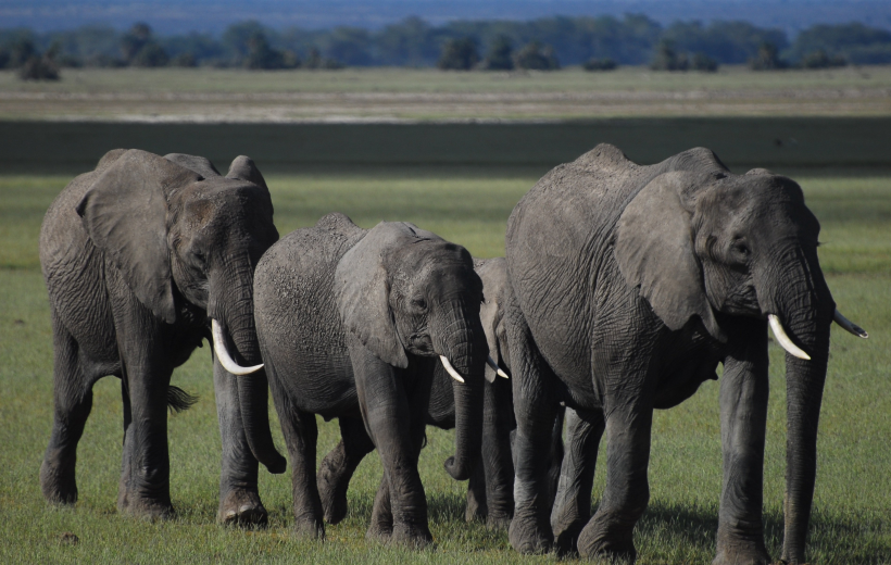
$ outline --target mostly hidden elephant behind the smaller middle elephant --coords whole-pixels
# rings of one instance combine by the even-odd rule
[[[475,269],[482,280],[484,302],[479,309],[489,355],[510,373],[511,361],[504,334],[503,304],[506,302],[507,267],[504,259],[475,260]],[[455,427],[455,399],[461,398],[460,382],[452,379],[442,364],[435,365],[430,404],[426,423],[440,429]],[[514,514],[514,465],[511,459],[511,432],[514,420],[513,391],[510,380],[497,378],[486,366],[485,407],[482,416],[481,465],[476,465],[467,486],[467,522],[484,522],[490,528],[506,529]],[[555,426],[556,441],[552,445],[553,487],[563,459],[563,422]],[[341,441],[328,453],[318,469],[318,492],[325,522],[337,524],[347,516],[347,490],[350,478],[362,459],[374,450],[374,443],[361,426],[341,426]]]

